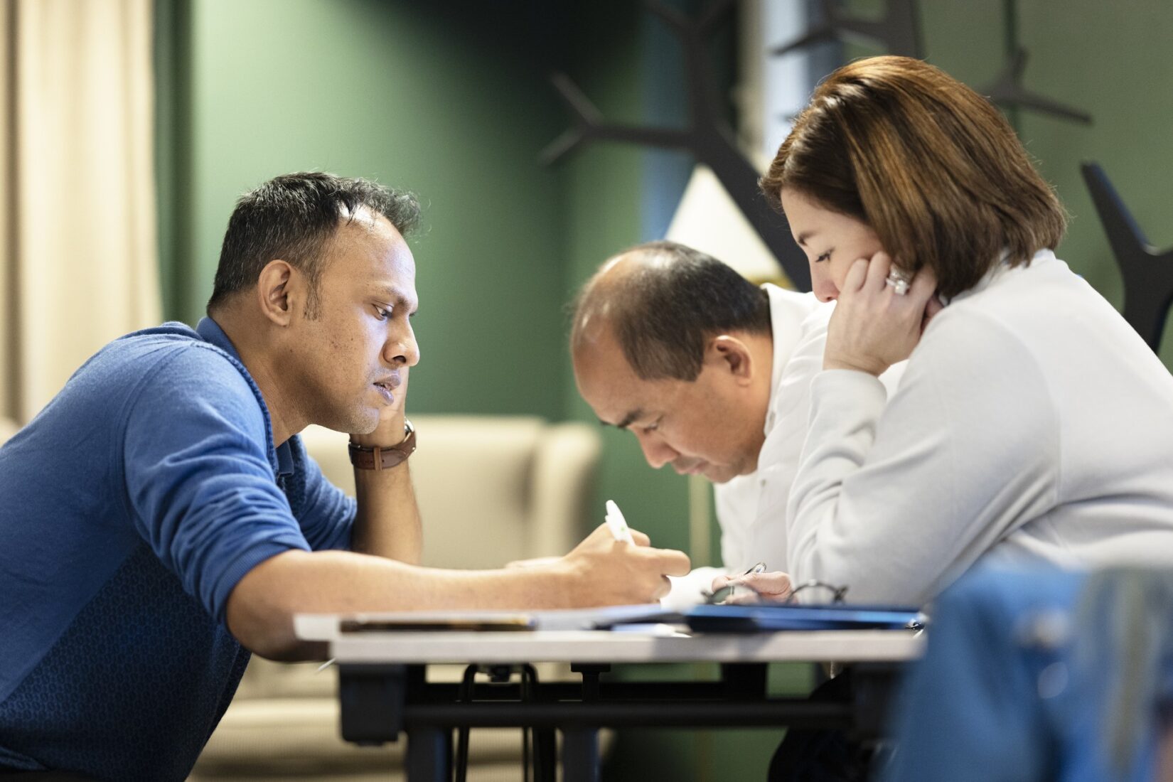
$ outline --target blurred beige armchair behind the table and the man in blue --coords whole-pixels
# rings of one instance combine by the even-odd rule
[[[412,420],[419,431],[411,465],[423,518],[425,564],[499,567],[565,553],[602,516],[588,508],[599,454],[596,428],[536,417]],[[311,427],[303,440],[326,477],[353,494],[346,435]],[[337,674],[316,668],[255,657],[190,778],[400,778],[404,742],[359,748],[343,741]],[[543,679],[550,674],[550,668],[542,671]],[[469,780],[516,780],[520,760],[520,730],[472,732]]]

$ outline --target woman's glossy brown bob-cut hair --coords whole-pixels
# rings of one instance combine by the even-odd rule
[[[974,287],[1004,250],[1013,266],[1053,250],[1066,227],[1002,114],[911,57],[869,57],[827,76],[759,184],[779,211],[791,188],[862,220],[894,263],[933,268],[947,297]]]

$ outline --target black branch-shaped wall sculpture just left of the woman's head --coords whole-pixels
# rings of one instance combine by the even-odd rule
[[[551,76],[554,87],[575,114],[576,124],[542,151],[542,161],[554,163],[589,141],[619,141],[669,149],[683,149],[704,163],[724,185],[730,198],[761,237],[798,291],[811,290],[806,256],[791,238],[786,219],[774,212],[758,190],[759,172],[738,149],[733,129],[721,115],[720,98],[710,79],[706,40],[728,13],[733,0],[719,0],[699,18],[689,19],[660,2],[647,8],[659,16],[684,45],[689,83],[689,127],[640,128],[611,124],[564,74]]]

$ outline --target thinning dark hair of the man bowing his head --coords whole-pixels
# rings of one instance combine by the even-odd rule
[[[571,345],[596,314],[613,331],[642,380],[693,381],[705,342],[727,332],[769,333],[769,295],[712,256],[676,242],[649,242],[621,253],[638,259],[622,281],[592,279],[574,304]]]

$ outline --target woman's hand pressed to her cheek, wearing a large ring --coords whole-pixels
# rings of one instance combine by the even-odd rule
[[[827,327],[823,369],[880,375],[913,353],[937,280],[924,267],[900,295],[886,281],[889,271],[891,259],[882,252],[852,264]]]

